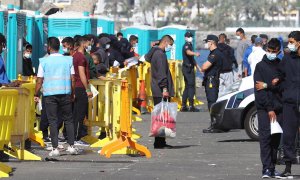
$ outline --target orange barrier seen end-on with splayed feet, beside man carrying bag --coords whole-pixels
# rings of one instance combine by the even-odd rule
[[[100,154],[105,155],[107,158],[110,158],[111,154],[122,150],[124,148],[130,148],[135,151],[140,152],[141,155],[145,155],[147,158],[151,157],[151,152],[145,147],[140,144],[134,142],[132,138],[132,125],[131,125],[131,90],[129,90],[130,86],[128,85],[127,81],[122,81],[121,85],[121,114],[120,117],[120,134],[119,138],[113,141],[110,144],[107,144],[101,149]]]

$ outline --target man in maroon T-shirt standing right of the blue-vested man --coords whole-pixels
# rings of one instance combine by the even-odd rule
[[[75,101],[74,101],[74,127],[76,145],[88,146],[80,139],[87,135],[87,128],[83,121],[88,111],[88,98],[92,97],[89,86],[89,64],[85,57],[87,48],[87,39],[80,37],[78,40],[78,49],[73,55],[73,65],[75,69]]]

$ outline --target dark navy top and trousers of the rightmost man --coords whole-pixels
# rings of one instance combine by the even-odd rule
[[[285,55],[278,77],[283,83],[283,159],[291,163],[296,157],[295,138],[300,121],[300,56],[296,53]]]

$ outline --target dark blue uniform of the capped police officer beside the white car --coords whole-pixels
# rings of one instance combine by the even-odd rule
[[[211,105],[218,99],[219,76],[223,62],[222,53],[219,49],[214,49],[210,52],[207,60],[212,66],[205,71],[202,85],[205,88],[208,109],[210,110]]]

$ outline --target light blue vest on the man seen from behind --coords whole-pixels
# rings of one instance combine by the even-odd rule
[[[44,71],[44,96],[71,94],[72,57],[48,56],[40,58],[40,64]]]

